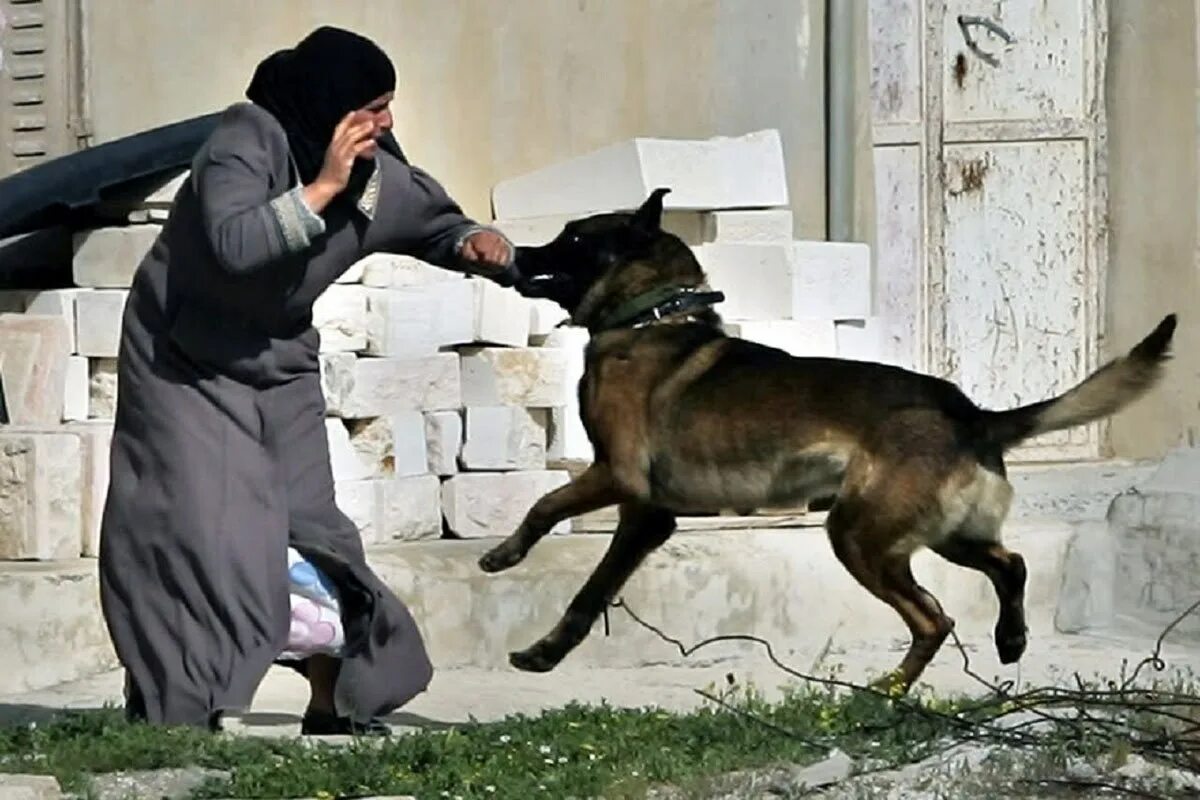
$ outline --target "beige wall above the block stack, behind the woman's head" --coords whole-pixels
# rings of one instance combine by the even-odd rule
[[[378,41],[397,134],[469,213],[498,180],[632,136],[782,133],[824,234],[824,0],[88,0],[96,142],[241,98],[314,25]]]

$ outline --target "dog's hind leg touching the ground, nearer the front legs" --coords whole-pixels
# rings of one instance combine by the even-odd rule
[[[937,600],[913,578],[908,565],[911,553],[893,549],[899,540],[887,530],[872,529],[870,510],[850,515],[839,513],[845,506],[839,500],[830,511],[827,528],[838,559],[871,594],[892,606],[900,614],[912,634],[908,651],[900,666],[874,684],[889,693],[904,694],[929,666],[946,637],[954,630],[954,620],[946,615]]]

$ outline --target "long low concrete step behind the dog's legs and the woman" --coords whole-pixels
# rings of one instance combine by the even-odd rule
[[[1062,604],[1070,524],[1008,527],[1006,539],[1030,569],[1032,636],[1054,632]],[[368,551],[372,565],[413,609],[439,668],[508,669],[508,654],[547,632],[600,561],[610,536],[545,539],[524,564],[485,575],[479,557],[498,540],[406,542]],[[990,636],[997,603],[982,576],[917,557],[913,571],[958,622],[961,634]],[[864,643],[902,649],[895,612],[869,595],[834,558],[820,529],[680,533],[652,554],[622,597],[647,622],[685,645],[714,636],[768,639],[780,657],[811,666]],[[29,691],[115,666],[100,613],[96,563],[0,566],[0,693]],[[624,668],[722,663],[758,651],[720,643],[684,657],[634,621],[610,613],[564,667]],[[983,657],[995,660],[990,650]],[[991,663],[991,662],[989,662]],[[998,666],[998,664],[996,664]]]

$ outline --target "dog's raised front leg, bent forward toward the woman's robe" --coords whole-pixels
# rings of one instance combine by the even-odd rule
[[[566,486],[539,499],[512,535],[484,553],[479,566],[484,572],[500,572],[516,566],[562,521],[620,503],[622,499],[608,465],[592,464]]]

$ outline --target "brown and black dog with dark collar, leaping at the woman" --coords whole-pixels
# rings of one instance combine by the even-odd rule
[[[553,669],[625,581],[676,529],[677,515],[799,507],[836,498],[826,528],[838,559],[900,614],[912,643],[882,682],[905,692],[953,627],[912,576],[929,547],[983,572],[1000,599],[1003,663],[1026,644],[1025,561],[1001,545],[1013,498],[1006,450],[1109,416],[1160,378],[1168,315],[1128,355],[1054,399],[982,409],[955,385],[896,367],[782,350],[726,336],[692,251],[661,227],[655,190],[636,212],[570,222],[517,251],[516,288],[558,302],[590,337],[578,386],[594,463],[541,498],[480,559],[518,564],[558,522],[619,505],[607,553],[554,628],[511,663]]]

